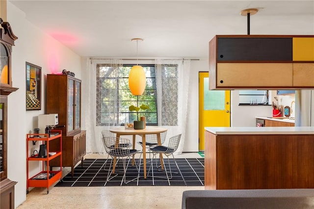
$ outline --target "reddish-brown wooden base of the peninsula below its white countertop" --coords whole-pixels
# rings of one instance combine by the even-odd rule
[[[311,134],[206,136],[205,189],[314,188]]]

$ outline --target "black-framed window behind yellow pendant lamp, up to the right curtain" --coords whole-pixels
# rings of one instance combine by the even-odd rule
[[[97,65],[97,126],[132,123],[145,116],[147,125],[157,125],[157,86],[155,65],[142,65],[146,74],[144,94],[133,96],[129,73],[133,65]],[[149,105],[150,109],[130,112],[129,106]],[[142,111],[142,112],[141,112]]]

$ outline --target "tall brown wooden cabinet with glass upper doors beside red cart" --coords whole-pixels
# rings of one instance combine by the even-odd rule
[[[47,75],[47,114],[58,114],[62,130],[62,165],[72,168],[86,155],[86,131],[81,130],[81,80],[69,75]],[[52,161],[51,166],[55,166]]]

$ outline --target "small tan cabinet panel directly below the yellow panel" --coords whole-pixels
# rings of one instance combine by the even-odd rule
[[[293,63],[293,86],[314,87],[314,63]]]

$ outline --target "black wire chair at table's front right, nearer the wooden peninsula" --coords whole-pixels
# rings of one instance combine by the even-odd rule
[[[178,134],[178,135],[170,137],[168,146],[156,146],[156,147],[153,147],[153,148],[150,149],[153,152],[153,157],[151,159],[151,165],[150,165],[149,170],[148,170],[148,175],[147,175],[148,177],[168,179],[168,183],[170,185],[169,179],[172,179],[172,173],[178,174],[180,172],[179,166],[177,164],[177,161],[176,161],[173,153],[176,152],[176,150],[179,147],[181,135],[182,134]],[[155,157],[155,160],[157,161],[157,157],[156,157],[157,154],[161,154],[161,155],[164,154],[167,157],[167,159],[168,159],[169,171],[167,171],[166,166],[164,166],[164,170],[158,169],[158,171],[165,172],[167,177],[160,177],[160,176],[154,177],[153,159]],[[177,166],[178,172],[172,172],[171,171],[170,160],[169,160],[169,156],[171,156],[171,155],[172,155],[172,157],[174,159],[174,162],[175,162],[175,164]],[[164,160],[163,160],[163,162],[164,162]],[[152,169],[152,175],[149,175],[151,169]],[[168,173],[170,174],[170,178],[168,176]]]

